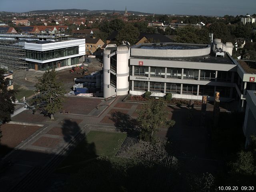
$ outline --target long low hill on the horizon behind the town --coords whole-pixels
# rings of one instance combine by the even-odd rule
[[[42,13],[42,14],[47,14],[47,13],[52,13],[52,12],[64,12],[64,13],[72,13],[72,12],[77,12],[77,13],[87,13],[87,14],[96,14],[96,13],[113,13],[113,10],[87,10],[87,9],[54,9],[54,10],[35,10],[35,11],[30,11],[30,13]],[[115,12],[119,13],[124,13],[123,11],[120,10],[115,10]],[[28,13],[28,12],[27,12]],[[138,12],[138,11],[128,11],[128,13],[131,14],[143,14],[143,15],[150,15],[152,13],[145,13],[145,12]]]

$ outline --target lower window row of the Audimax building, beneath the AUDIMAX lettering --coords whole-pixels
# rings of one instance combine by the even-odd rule
[[[164,83],[162,82],[147,82],[147,81],[134,81],[134,90],[143,90],[154,92],[164,92]],[[193,94],[197,95],[197,85],[194,84],[183,84],[182,85],[182,94]],[[179,83],[166,83],[166,93],[178,93],[180,94],[181,84]],[[230,96],[230,87],[216,86],[216,91],[219,91],[223,97]],[[199,95],[214,96],[214,86],[199,86]]]

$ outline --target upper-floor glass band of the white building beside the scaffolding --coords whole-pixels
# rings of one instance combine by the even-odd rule
[[[78,46],[54,49],[48,51],[35,51],[26,49],[26,58],[35,60],[49,60],[78,54]]]

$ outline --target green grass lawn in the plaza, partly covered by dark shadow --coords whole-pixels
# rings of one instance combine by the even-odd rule
[[[125,138],[126,134],[123,133],[90,131],[86,135],[86,138],[58,166],[56,171],[58,173],[74,173],[83,164],[86,164],[97,156],[113,157]]]

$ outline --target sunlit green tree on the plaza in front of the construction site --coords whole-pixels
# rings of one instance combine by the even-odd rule
[[[36,89],[40,91],[40,94],[33,99],[33,102],[36,103],[35,108],[42,110],[44,115],[54,119],[54,113],[62,108],[62,96],[66,93],[62,84],[56,81],[56,71],[53,69],[45,72],[36,84]]]

